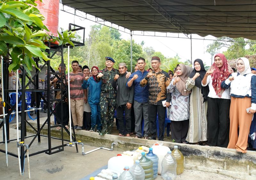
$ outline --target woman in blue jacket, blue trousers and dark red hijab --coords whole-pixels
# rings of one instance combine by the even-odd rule
[[[83,82],[83,89],[88,88],[88,103],[90,104],[92,115],[91,115],[91,132],[95,131],[97,124],[97,132],[101,131],[101,118],[100,118],[100,92],[101,92],[101,80],[98,81],[96,76],[99,73],[97,66],[92,67],[92,77],[86,76]]]

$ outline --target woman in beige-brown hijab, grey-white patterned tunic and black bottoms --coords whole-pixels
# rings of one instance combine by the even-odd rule
[[[191,71],[184,64],[178,64],[177,77],[174,77],[167,87],[172,93],[172,106],[170,109],[172,139],[177,143],[186,143],[189,124],[189,94],[185,83]]]

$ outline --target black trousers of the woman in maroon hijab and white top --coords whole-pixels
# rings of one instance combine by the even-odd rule
[[[208,145],[228,147],[230,99],[208,98]],[[244,108],[245,109],[245,108]]]

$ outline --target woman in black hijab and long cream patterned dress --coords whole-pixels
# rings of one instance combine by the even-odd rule
[[[190,95],[190,119],[186,140],[190,143],[205,144],[207,141],[207,98],[209,86],[203,87],[201,82],[206,71],[201,59],[194,61],[194,69],[186,81],[186,89],[192,90]]]

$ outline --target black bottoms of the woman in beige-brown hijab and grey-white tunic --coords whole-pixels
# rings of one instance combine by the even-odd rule
[[[186,142],[189,119],[183,121],[171,121],[172,139],[177,143]]]

